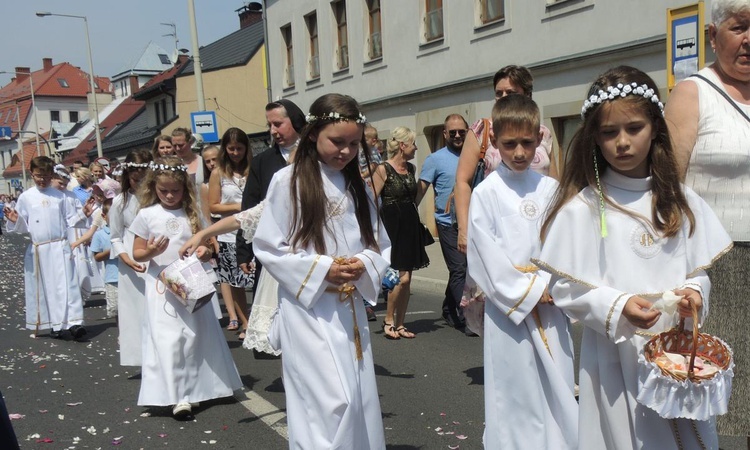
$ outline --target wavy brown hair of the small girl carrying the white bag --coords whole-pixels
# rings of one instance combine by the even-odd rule
[[[181,168],[185,168],[182,170]],[[156,195],[156,182],[159,177],[166,177],[182,185],[182,209],[188,217],[190,228],[193,234],[199,232],[202,228],[200,219],[200,208],[198,200],[195,197],[195,189],[190,175],[187,173],[187,167],[177,156],[165,156],[157,158],[148,168],[146,178],[141,183],[138,191],[138,198],[141,201],[141,209],[156,205],[159,202],[159,196]]]

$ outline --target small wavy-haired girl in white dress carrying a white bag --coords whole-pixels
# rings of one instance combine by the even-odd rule
[[[201,226],[187,167],[174,156],[157,159],[141,186],[141,210],[130,226],[133,257],[148,262],[138,404],[173,406],[175,418],[183,419],[193,404],[231,396],[242,382],[213,309],[191,313],[157,285],[161,271],[180,258],[178,250]],[[207,261],[211,251],[200,246],[196,255]]]

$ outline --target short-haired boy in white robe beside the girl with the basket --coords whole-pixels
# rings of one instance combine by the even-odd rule
[[[486,296],[484,445],[577,449],[568,320],[547,291],[549,275],[530,262],[557,187],[529,169],[541,141],[539,108],[509,95],[492,120],[502,163],[472,193],[467,236],[468,273]]]

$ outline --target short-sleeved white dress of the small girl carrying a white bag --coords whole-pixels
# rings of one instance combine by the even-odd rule
[[[156,280],[180,258],[180,247],[192,236],[182,209],[161,205],[143,208],[130,226],[135,236],[169,238],[167,249],[148,262],[143,364],[139,405],[170,406],[231,396],[242,387],[224,333],[212,308],[190,313]]]

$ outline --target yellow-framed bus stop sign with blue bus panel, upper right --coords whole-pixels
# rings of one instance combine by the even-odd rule
[[[667,88],[706,64],[703,2],[667,9]]]

